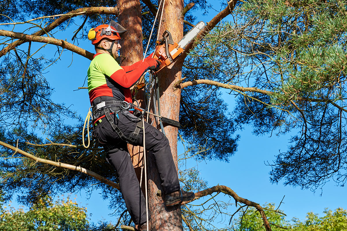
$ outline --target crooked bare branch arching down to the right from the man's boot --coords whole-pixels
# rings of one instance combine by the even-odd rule
[[[258,203],[249,201],[245,198],[238,196],[231,188],[229,188],[227,186],[217,185],[217,186],[213,186],[212,188],[208,188],[208,189],[202,190],[200,192],[197,192],[197,193],[195,193],[195,198],[192,201],[195,201],[196,199],[199,199],[203,196],[211,195],[212,193],[217,193],[217,192],[221,192],[221,193],[225,193],[227,195],[230,195],[235,199],[236,202],[240,202],[240,203],[243,203],[247,206],[252,206],[252,207],[256,208],[256,210],[259,211],[261,216],[262,216],[266,231],[271,231],[270,223],[269,223],[268,219],[266,218],[266,215],[263,211],[263,208]],[[192,201],[189,201],[189,202],[192,202]],[[189,202],[182,202],[181,205],[185,205]]]

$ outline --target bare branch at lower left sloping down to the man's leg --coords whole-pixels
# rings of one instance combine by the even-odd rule
[[[115,182],[111,181],[111,180],[108,180],[102,176],[100,176],[99,174],[93,172],[93,171],[90,171],[88,169],[85,169],[85,168],[82,168],[80,166],[74,166],[74,165],[69,165],[69,164],[66,164],[66,163],[61,163],[61,162],[56,162],[56,161],[52,161],[52,160],[46,160],[46,159],[42,159],[42,158],[39,158],[39,157],[35,157],[34,155],[32,154],[29,154],[21,149],[18,149],[12,145],[9,145],[7,143],[4,143],[2,141],[0,141],[0,145],[6,147],[6,148],[9,148],[15,152],[18,152],[20,154],[22,154],[23,156],[27,157],[27,158],[30,158],[32,160],[35,160],[36,162],[40,162],[40,163],[46,163],[46,164],[49,164],[49,165],[53,165],[53,166],[56,166],[56,167],[59,167],[59,168],[65,168],[65,169],[70,169],[70,170],[74,170],[74,171],[78,171],[78,172],[82,172],[84,174],[87,174],[88,176],[91,176],[91,177],[94,177],[95,179],[99,180],[101,183],[104,183],[104,184],[107,184],[113,188],[117,188],[117,189],[120,189],[119,188],[119,185],[116,184]]]

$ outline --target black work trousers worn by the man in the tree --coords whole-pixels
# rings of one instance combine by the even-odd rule
[[[141,121],[141,118],[136,118],[128,111],[119,112],[118,117],[119,119],[114,121],[115,125],[126,137],[134,132],[137,122]],[[164,193],[174,192],[180,186],[169,141],[163,133],[150,124],[145,122],[144,126],[146,150],[151,151],[154,155]],[[146,202],[128,153],[127,143],[112,129],[105,117],[101,119],[100,124],[94,127],[94,135],[107,152],[107,161],[116,168],[120,191],[134,223],[146,222]],[[142,129],[137,145],[143,146]]]

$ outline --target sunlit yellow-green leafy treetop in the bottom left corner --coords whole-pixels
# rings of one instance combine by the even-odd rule
[[[76,229],[87,223],[87,209],[76,202],[61,199],[52,202],[49,197],[33,205],[29,211],[15,209],[0,198],[1,231],[58,231],[64,230],[61,223]]]

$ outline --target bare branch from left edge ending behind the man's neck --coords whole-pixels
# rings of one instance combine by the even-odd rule
[[[44,37],[44,36],[37,36],[37,35],[27,35],[19,32],[13,32],[9,30],[1,30],[0,29],[0,36],[6,36],[6,37],[11,37],[11,38],[18,38],[18,41],[23,41],[23,42],[39,42],[39,43],[49,43],[57,46],[61,46],[63,48],[66,48],[69,51],[75,52],[79,55],[82,55],[86,57],[87,59],[92,60],[93,59],[93,53],[86,51],[74,44],[71,44],[67,41],[64,41],[62,39],[56,39],[56,38],[51,38],[51,37]],[[0,51],[1,53],[1,51]],[[0,55],[1,56],[1,55]]]

